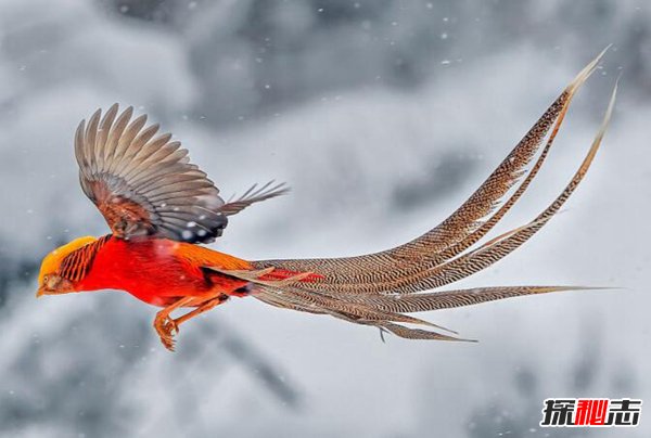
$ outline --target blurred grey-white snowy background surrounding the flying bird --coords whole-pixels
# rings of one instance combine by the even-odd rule
[[[128,294],[36,300],[40,258],[106,232],[77,184],[84,117],[135,105],[226,195],[288,181],[214,247],[342,256],[460,204],[608,43],[546,168],[499,230],[551,201],[622,92],[584,184],[520,250],[460,286],[622,291],[426,314],[476,345],[233,299],[183,327]],[[548,397],[651,402],[651,5],[644,0],[0,0],[0,436],[651,436],[546,430]],[[498,230],[498,231],[499,231]]]

